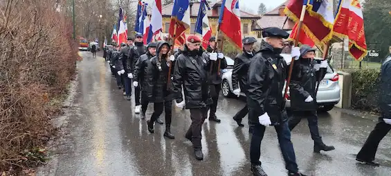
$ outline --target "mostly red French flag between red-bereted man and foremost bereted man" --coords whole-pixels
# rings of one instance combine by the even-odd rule
[[[219,17],[219,30],[239,49],[242,49],[242,24],[239,0],[223,0]]]

